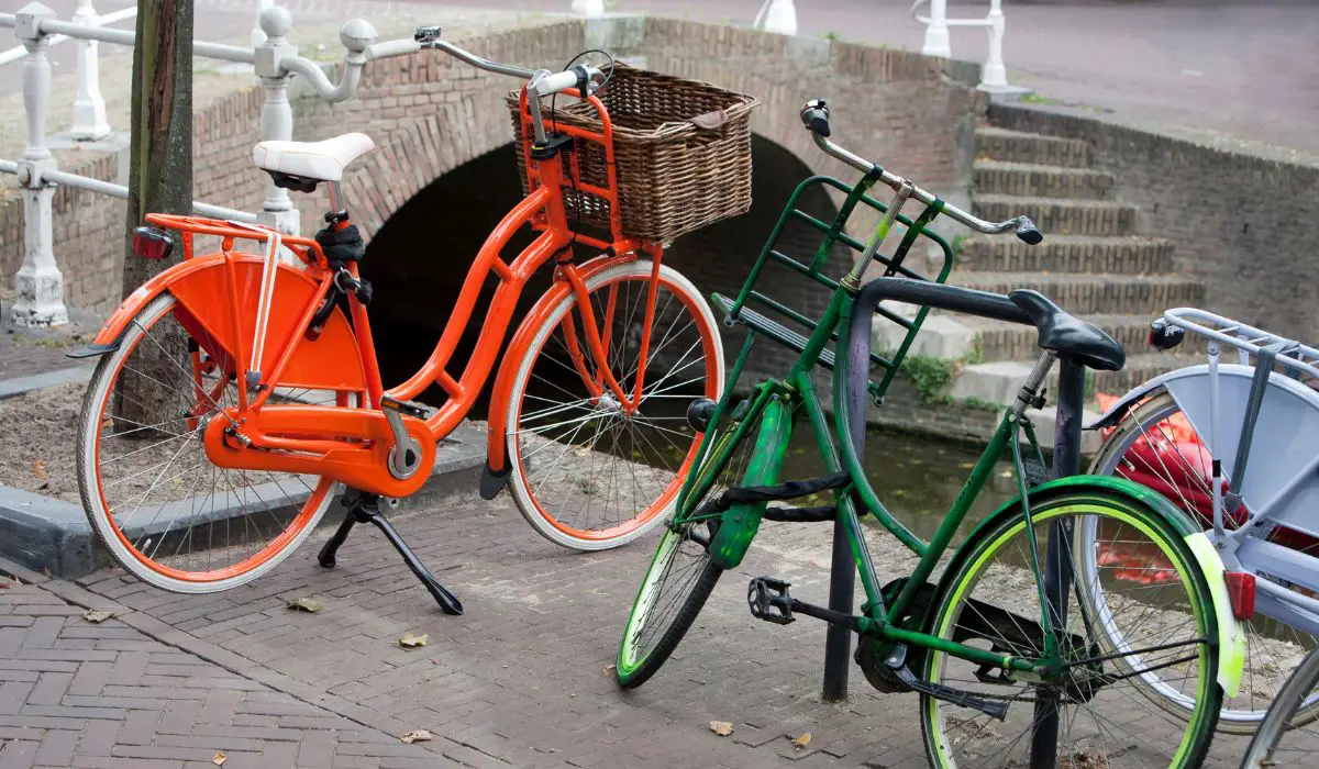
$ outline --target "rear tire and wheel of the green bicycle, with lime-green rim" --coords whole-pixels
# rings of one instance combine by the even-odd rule
[[[940,579],[930,604],[926,632],[944,640],[960,637],[963,642],[980,648],[988,645],[997,653],[1042,658],[1042,636],[1033,637],[1030,633],[1031,627],[1045,625],[1045,615],[1035,572],[1029,566],[1030,561],[1022,562],[1029,554],[1029,545],[1022,547],[1017,543],[1016,550],[1009,545],[1014,538],[1045,538],[1041,528],[1047,525],[1053,530],[1055,522],[1074,528],[1078,518],[1087,516],[1103,517],[1111,530],[1120,529],[1130,537],[1144,536],[1146,545],[1158,547],[1177,565],[1175,584],[1159,588],[1159,592],[1134,594],[1138,596],[1136,600],[1128,599],[1132,617],[1149,624],[1145,631],[1146,645],[1130,653],[1129,663],[1167,665],[1169,670],[1181,666],[1186,670],[1187,679],[1194,682],[1196,691],[1191,718],[1181,719],[1149,704],[1146,711],[1136,711],[1133,718],[1133,703],[1144,703],[1145,699],[1126,689],[1138,685],[1130,683],[1132,677],[1125,675],[1128,667],[1103,656],[1103,648],[1095,637],[1093,617],[1084,613],[1079,592],[1072,590],[1068,591],[1067,625],[1060,638],[1063,670],[1051,681],[1043,678],[1043,674],[1025,673],[997,678],[993,670],[985,671],[975,662],[966,662],[944,652],[923,653],[925,681],[960,689],[983,699],[1009,703],[1008,714],[998,722],[972,708],[922,694],[921,728],[931,766],[1063,765],[1122,769],[1167,765],[1188,769],[1203,762],[1223,702],[1223,690],[1216,679],[1219,649],[1211,640],[1216,628],[1213,601],[1190,547],[1162,516],[1142,503],[1088,491],[1058,495],[1041,501],[1031,512],[1031,521],[1037,526],[1034,534],[1028,533],[1026,517],[1020,508],[991,520],[959,549]],[[1070,554],[1071,550],[1063,553]],[[992,563],[991,558],[995,555],[1002,555],[1004,559]],[[1041,561],[1045,558],[1041,551]],[[1074,566],[1072,563],[1072,569]],[[971,591],[981,586],[984,591],[973,598]],[[1150,603],[1159,598],[1166,601]],[[996,617],[991,609],[984,608],[984,603],[1010,613],[1008,617]],[[967,613],[968,609],[971,613]],[[996,634],[991,636],[991,632]],[[1181,657],[1183,653],[1186,656]],[[968,671],[959,677],[958,669]],[[1018,689],[1010,690],[1013,686]],[[1013,702],[1016,699],[1024,702]],[[1045,736],[1037,748],[1033,741],[1035,724],[1039,723],[1039,702],[1058,703],[1059,731],[1054,733],[1053,744]],[[1157,714],[1162,714],[1161,723],[1153,718]],[[1020,736],[1013,732],[1016,728],[1022,729]],[[1112,744],[1105,748],[1103,741],[1108,739]],[[1037,749],[1053,753],[1046,756],[1047,762],[1033,761],[1037,758],[1033,754]]]

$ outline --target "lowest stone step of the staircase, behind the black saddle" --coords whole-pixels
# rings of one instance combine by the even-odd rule
[[[1122,371],[1087,372],[1087,401],[1093,402],[1095,393],[1122,394],[1161,373],[1203,361],[1203,356],[1191,354],[1154,352],[1133,355],[1126,359],[1126,365]],[[1030,373],[1031,365],[1034,365],[1034,359],[996,360],[964,365],[952,377],[946,392],[956,401],[1006,406],[1017,397],[1017,390],[1021,388],[1021,383],[1026,379],[1026,375]],[[1057,383],[1058,367],[1054,367],[1046,384],[1049,393],[1058,392]],[[1047,396],[1047,400],[1050,405],[1055,402],[1053,394]]]

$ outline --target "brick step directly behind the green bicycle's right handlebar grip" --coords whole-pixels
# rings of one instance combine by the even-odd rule
[[[1026,245],[1009,235],[977,235],[962,244],[958,269],[1159,274],[1173,272],[1173,241],[1138,235],[1047,235],[1039,245]]]

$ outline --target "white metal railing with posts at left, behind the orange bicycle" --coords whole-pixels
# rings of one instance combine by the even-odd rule
[[[368,61],[415,50],[412,41],[376,44],[376,30],[371,24],[360,18],[350,20],[339,29],[339,41],[346,49],[343,77],[338,83],[332,83],[321,65],[299,57],[297,46],[289,45],[288,34],[293,26],[289,12],[272,5],[270,0],[259,0],[259,7],[262,37],[259,45],[241,47],[195,41],[193,53],[198,57],[253,66],[265,90],[265,100],[261,104],[262,141],[293,138],[289,82],[294,75],[302,77],[322,99],[343,102],[356,95],[361,69]],[[22,266],[15,277],[16,297],[11,307],[11,317],[18,326],[58,326],[69,321],[63,305],[63,274],[55,264],[51,236],[55,185],[117,198],[128,197],[128,187],[123,185],[61,171],[50,148],[46,146],[46,116],[50,104],[50,61],[46,51],[54,45],[55,38],[75,40],[80,46],[86,44],[95,46],[96,42],[132,46],[136,33],[128,29],[108,29],[107,24],[112,17],[112,15],[98,17],[91,0],[79,0],[74,21],[57,20],[54,12],[40,3],[25,5],[17,13],[0,13],[0,28],[13,28],[22,42],[22,102],[28,117],[28,148],[22,157],[17,161],[0,160],[0,173],[17,175],[22,187]],[[79,58],[79,88],[74,100],[75,135],[83,138],[103,137],[109,132],[109,127],[106,125],[104,100],[100,99],[96,82],[96,49],[80,47],[79,57],[84,54],[91,59],[91,65],[84,66],[86,62]],[[80,103],[82,111],[79,111]],[[200,202],[194,202],[193,210],[207,216],[256,222],[293,235],[298,232],[299,216],[289,199],[289,193],[276,187],[273,182],[266,185],[265,202],[256,214]]]

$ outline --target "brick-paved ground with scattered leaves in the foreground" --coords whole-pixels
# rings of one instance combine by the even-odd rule
[[[915,696],[819,702],[820,623],[753,620],[745,579],[824,600],[828,529],[773,526],[725,575],[674,660],[620,692],[607,670],[653,542],[580,555],[506,496],[455,495],[397,517],[464,601],[442,615],[375,532],[334,570],[321,532],[256,584],[211,596],[107,571],[0,590],[0,766],[868,766],[926,764]],[[809,536],[799,537],[807,533]],[[890,575],[905,565],[886,562]],[[40,579],[40,578],[37,578]],[[314,598],[318,613],[286,608]],[[92,625],[84,607],[115,619]],[[429,644],[405,650],[405,632]],[[733,733],[718,737],[710,720]],[[412,729],[429,743],[404,745]],[[811,732],[798,749],[787,736]],[[1236,766],[1239,739],[1210,766]]]

